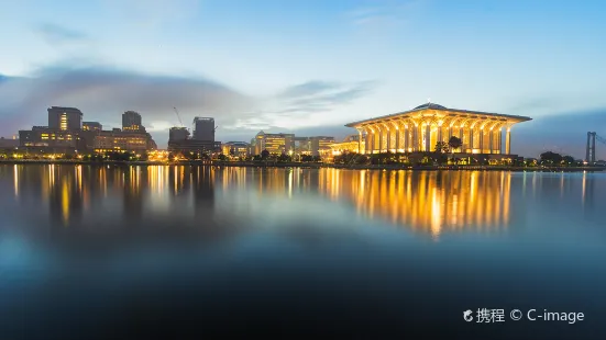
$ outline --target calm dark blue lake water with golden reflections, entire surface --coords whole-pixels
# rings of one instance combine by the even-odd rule
[[[0,339],[604,339],[606,173],[3,165],[0,209]]]

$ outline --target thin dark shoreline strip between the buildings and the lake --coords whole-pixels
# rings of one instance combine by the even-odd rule
[[[239,168],[332,168],[349,170],[416,170],[416,171],[538,171],[538,172],[602,172],[604,166],[595,167],[508,167],[508,166],[404,166],[404,165],[333,165],[319,162],[263,162],[263,161],[85,161],[85,160],[0,160],[0,165],[87,165],[87,166],[207,166]]]

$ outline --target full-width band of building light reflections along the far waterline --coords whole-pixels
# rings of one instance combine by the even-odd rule
[[[1,169],[3,178],[12,177],[14,199],[23,205],[36,206],[27,218],[53,230],[57,226],[89,230],[95,226],[199,227],[217,222],[219,215],[221,223],[229,222],[242,207],[249,215],[242,218],[276,214],[262,212],[268,206],[264,207],[262,202],[268,199],[297,200],[294,205],[279,201],[280,209],[293,214],[317,209],[321,215],[321,209],[330,207],[312,205],[311,201],[319,202],[313,197],[320,195],[337,205],[351,205],[368,220],[385,220],[439,238],[449,231],[508,228],[516,215],[513,207],[521,205],[511,203],[513,183],[517,188],[514,190],[520,191],[516,194],[518,202],[558,200],[565,204],[581,191],[585,216],[595,209],[596,177],[591,173],[57,165],[15,165]],[[575,181],[581,181],[576,182],[580,185]],[[217,213],[217,192],[222,197],[221,214]],[[524,212],[520,214],[524,216]]]

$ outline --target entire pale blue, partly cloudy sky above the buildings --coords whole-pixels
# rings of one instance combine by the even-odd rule
[[[331,135],[431,101],[526,115],[513,152],[583,158],[606,137],[604,1],[0,1],[0,136],[46,109],[120,127],[134,110],[157,144],[195,116],[218,140]],[[606,145],[597,146],[606,159]]]

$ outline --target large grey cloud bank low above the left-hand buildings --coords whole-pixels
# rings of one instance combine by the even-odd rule
[[[85,121],[120,122],[126,110],[142,114],[144,125],[163,131],[177,125],[173,106],[184,124],[194,116],[233,122],[254,100],[218,82],[198,78],[151,76],[107,67],[46,67],[30,78],[9,79],[0,86],[0,134],[46,124],[46,109],[75,106]],[[115,124],[115,123],[114,123]],[[118,127],[118,126],[106,126]],[[163,144],[165,140],[158,140]]]

